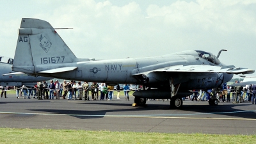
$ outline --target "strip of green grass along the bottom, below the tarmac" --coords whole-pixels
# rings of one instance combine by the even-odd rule
[[[0,128],[0,143],[255,143],[256,135]]]

